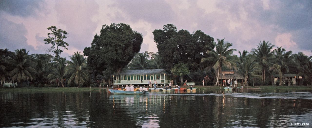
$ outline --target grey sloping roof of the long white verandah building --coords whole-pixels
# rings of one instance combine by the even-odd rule
[[[130,75],[130,74],[170,74],[166,69],[142,69],[142,70],[125,70],[116,75]]]

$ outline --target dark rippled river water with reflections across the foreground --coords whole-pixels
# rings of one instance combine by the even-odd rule
[[[0,127],[312,126],[311,92],[1,93]],[[307,126],[309,127],[309,126]]]

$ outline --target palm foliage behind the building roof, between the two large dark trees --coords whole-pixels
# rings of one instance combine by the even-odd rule
[[[136,53],[134,58],[129,64],[130,69],[151,69],[151,61],[147,59],[149,54],[145,53]]]

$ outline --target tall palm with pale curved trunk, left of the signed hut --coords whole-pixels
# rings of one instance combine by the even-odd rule
[[[206,53],[210,56],[207,58],[203,58],[201,62],[210,61],[213,62],[213,69],[215,69],[217,74],[217,82],[215,85],[219,83],[219,73],[222,73],[222,66],[226,66],[227,68],[234,68],[236,69],[236,64],[231,61],[233,52],[236,51],[236,49],[229,49],[232,44],[225,43],[224,38],[223,39],[217,39],[218,44],[216,45],[216,51],[215,50],[208,50]]]

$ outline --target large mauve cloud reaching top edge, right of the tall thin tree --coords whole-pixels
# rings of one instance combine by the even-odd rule
[[[70,44],[68,49],[82,51],[85,47],[90,46],[98,24],[94,18],[98,14],[98,9],[99,5],[95,1],[56,2],[55,10],[59,23],[63,24],[65,28],[62,29],[68,32],[65,39]]]

